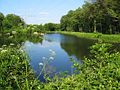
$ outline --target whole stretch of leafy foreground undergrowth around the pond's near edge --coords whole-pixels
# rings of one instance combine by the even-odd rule
[[[111,44],[99,43],[91,47],[91,56],[79,65],[79,74],[46,83],[34,77],[25,52],[18,48],[0,50],[0,90],[119,90],[120,53],[111,51]]]

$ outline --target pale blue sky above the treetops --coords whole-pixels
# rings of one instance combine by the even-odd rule
[[[19,15],[27,24],[59,23],[63,15],[83,3],[84,0],[0,0],[0,12]]]

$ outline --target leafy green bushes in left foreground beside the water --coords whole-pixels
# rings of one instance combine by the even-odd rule
[[[28,60],[23,50],[2,47],[0,50],[1,90],[28,90],[32,86],[35,78]]]

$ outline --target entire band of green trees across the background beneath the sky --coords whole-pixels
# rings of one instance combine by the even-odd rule
[[[60,24],[27,25],[15,15],[4,16],[0,13],[0,32],[2,30],[33,27],[39,31],[74,31],[100,32],[103,34],[120,33],[120,1],[119,0],[87,0],[82,7],[70,10],[62,16]],[[91,1],[91,2],[89,2]]]

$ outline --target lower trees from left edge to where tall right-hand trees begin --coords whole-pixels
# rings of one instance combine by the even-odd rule
[[[26,24],[24,20],[18,15],[8,14],[5,16],[0,12],[0,32],[18,29],[28,29],[31,31],[56,31],[60,29],[60,24]]]

